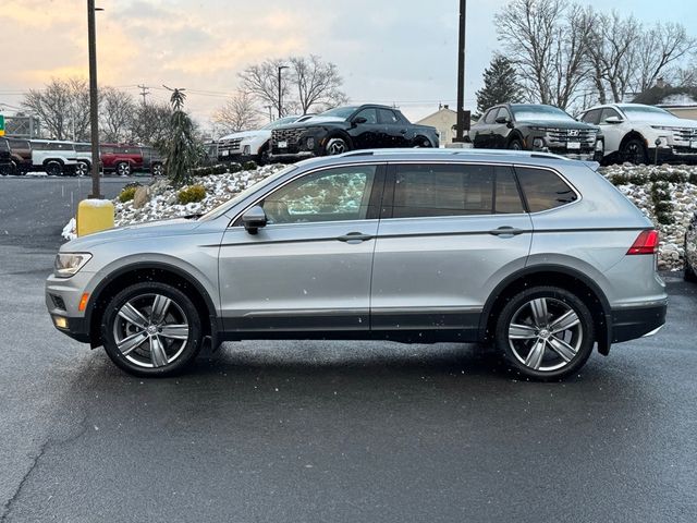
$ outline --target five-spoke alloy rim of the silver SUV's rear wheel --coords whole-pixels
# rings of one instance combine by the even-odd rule
[[[509,324],[513,355],[526,367],[550,372],[568,365],[584,340],[582,321],[568,304],[538,297],[521,306]]]

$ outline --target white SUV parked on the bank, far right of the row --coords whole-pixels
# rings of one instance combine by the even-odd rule
[[[697,121],[659,107],[608,104],[589,109],[579,119],[602,129],[607,161],[697,161]]]

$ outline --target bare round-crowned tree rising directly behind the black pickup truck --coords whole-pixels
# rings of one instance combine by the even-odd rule
[[[342,80],[337,65],[323,62],[316,54],[309,57],[293,57],[291,64],[291,85],[297,93],[297,101],[303,114],[307,114],[313,107],[327,109],[346,101],[346,95],[341,90]]]

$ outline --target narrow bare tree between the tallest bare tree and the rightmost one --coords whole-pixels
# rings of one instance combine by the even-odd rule
[[[595,13],[588,8],[586,14],[590,28],[587,58],[598,98],[604,104],[609,89],[613,101],[622,101],[632,82],[641,25],[616,11]]]

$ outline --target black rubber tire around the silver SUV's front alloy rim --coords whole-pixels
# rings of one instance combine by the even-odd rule
[[[162,297],[171,300],[166,309],[167,314],[161,321],[154,319],[156,315],[152,311],[155,296],[160,296],[160,300]],[[149,316],[147,305],[143,308],[138,306],[139,303],[147,304],[148,302],[152,303]],[[149,333],[148,328],[131,324],[119,315],[119,312],[126,304],[135,304],[134,306],[143,312],[140,317],[143,318],[143,324],[149,326],[148,328],[156,327],[157,330],[157,325],[161,325],[164,328],[174,324],[179,327],[186,325],[187,337],[185,340],[181,338],[170,339],[162,333],[162,328],[159,329],[159,332]],[[168,319],[171,319],[172,324],[168,324],[166,321]],[[139,331],[146,335],[146,338],[124,355],[125,351],[120,350],[118,346],[117,336],[123,336],[120,340],[123,348],[125,346],[123,344],[125,338],[129,336],[133,338]],[[192,300],[178,288],[160,282],[136,283],[113,296],[107,305],[102,317],[101,337],[107,354],[117,366],[129,374],[146,377],[172,376],[183,372],[196,357],[203,343],[200,315]],[[137,339],[134,341],[137,341]],[[154,339],[157,339],[157,345],[164,351],[164,360],[171,357],[171,361],[167,361],[167,363],[160,362],[159,365],[156,364],[152,352]],[[150,366],[147,366],[148,361]]]

